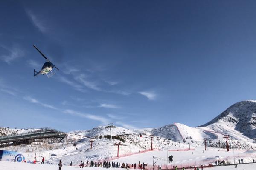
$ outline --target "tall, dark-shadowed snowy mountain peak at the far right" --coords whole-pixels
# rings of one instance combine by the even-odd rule
[[[256,138],[256,101],[237,102],[200,127],[229,134],[235,139]]]

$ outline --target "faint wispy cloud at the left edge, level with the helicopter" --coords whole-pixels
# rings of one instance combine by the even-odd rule
[[[13,47],[13,48],[7,48],[4,46],[1,46],[1,47],[6,49],[9,52],[8,55],[0,55],[0,59],[8,64],[10,64],[12,61],[14,61],[17,58],[23,57],[25,54],[23,50],[17,47]]]

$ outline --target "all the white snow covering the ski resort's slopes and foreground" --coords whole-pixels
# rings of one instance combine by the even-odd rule
[[[105,126],[94,127],[91,130],[77,130],[68,133],[67,141],[63,143],[45,144],[43,142],[33,142],[30,145],[9,146],[1,148],[2,150],[12,150],[21,153],[26,153],[30,157],[37,157],[41,161],[45,157],[45,164],[19,164],[19,168],[24,169],[56,169],[54,164],[57,164],[60,159],[64,165],[69,165],[70,161],[73,165],[78,165],[83,161],[117,161],[134,164],[140,161],[152,165],[153,156],[161,158],[157,160],[157,165],[166,164],[167,152],[168,156],[173,155],[172,165],[191,166],[201,164],[215,164],[215,160],[225,160],[227,163],[233,163],[234,157],[236,163],[238,159],[244,159],[244,162],[252,162],[252,158],[256,159],[256,147],[253,144],[253,138],[256,135],[256,101],[238,102],[226,111],[221,113],[212,121],[200,127],[189,127],[181,123],[174,123],[157,128],[144,129],[126,129],[123,127],[112,128],[112,135],[118,135],[125,142],[119,147],[119,158],[117,155],[118,141],[113,139],[105,139],[104,135],[110,135],[110,129]],[[17,135],[28,133],[38,129],[10,129],[0,128],[0,136]],[[139,134],[142,134],[140,137]],[[223,138],[224,134],[230,136],[232,145],[230,152],[227,152],[226,141]],[[153,148],[154,151],[148,151],[151,148],[150,135],[154,135]],[[102,139],[99,139],[102,136]],[[186,136],[192,136],[190,146],[195,149],[192,151],[167,151],[187,149],[188,139]],[[93,147],[90,149],[90,137],[95,138]],[[207,151],[204,151],[203,140],[207,139]],[[239,150],[240,142],[240,150]],[[74,146],[77,143],[77,146]],[[234,149],[233,149],[234,148]],[[147,152],[144,152],[147,150]],[[136,153],[136,154],[135,154]],[[129,155],[129,156],[128,156]],[[5,170],[4,166],[8,164],[10,168],[15,169],[18,163],[0,161],[0,170]],[[47,165],[48,164],[48,165]],[[49,165],[53,164],[53,165]],[[169,163],[168,163],[169,164]],[[22,166],[20,166],[22,165]],[[254,165],[254,164],[253,164]],[[240,167],[250,168],[252,164],[240,165]],[[2,167],[1,167],[2,166]],[[24,167],[23,167],[24,166]],[[63,169],[72,169],[75,167],[63,167]],[[76,167],[77,168],[77,167]],[[227,167],[232,169],[233,166]],[[17,167],[16,167],[17,169]],[[90,168],[99,169],[99,168]],[[221,170],[223,167],[214,167],[212,169]],[[9,169],[8,169],[9,170]],[[23,170],[23,169],[21,169]]]

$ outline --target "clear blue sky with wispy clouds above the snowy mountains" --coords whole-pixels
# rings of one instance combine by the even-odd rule
[[[198,126],[256,96],[256,2],[0,6],[0,126]],[[33,77],[45,60],[60,69]]]

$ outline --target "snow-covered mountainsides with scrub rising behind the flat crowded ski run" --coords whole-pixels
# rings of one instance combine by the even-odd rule
[[[232,147],[241,150],[255,149],[253,138],[256,137],[256,101],[247,100],[238,102],[221,113],[212,121],[199,127],[189,127],[181,123],[174,123],[157,128],[126,129],[123,127],[112,128],[113,136],[118,135],[123,140],[120,147],[121,155],[140,153],[151,149],[151,136],[154,135],[153,148],[155,153],[163,156],[166,150],[186,150],[188,148],[187,136],[191,136],[190,146],[192,148],[203,148],[204,139],[207,139],[208,147],[224,149],[226,142],[224,134],[234,139]],[[27,133],[38,129],[10,129],[0,128],[0,136]],[[36,154],[41,159],[44,156],[49,164],[58,163],[63,159],[64,164],[73,161],[79,164],[81,160],[102,161],[113,159],[116,156],[115,142],[104,138],[110,135],[110,129],[106,126],[94,127],[90,130],[77,130],[68,133],[67,141],[63,143],[47,144],[44,142],[32,142],[30,145],[9,146],[6,150],[19,150],[29,154]],[[102,138],[100,138],[102,136]],[[90,137],[95,138],[93,148],[90,149]],[[241,142],[242,141],[242,142]],[[240,143],[239,143],[240,142]],[[77,144],[77,146],[74,145]],[[201,150],[200,149],[200,150]],[[213,149],[214,150],[214,149]],[[152,156],[151,156],[152,157]]]

